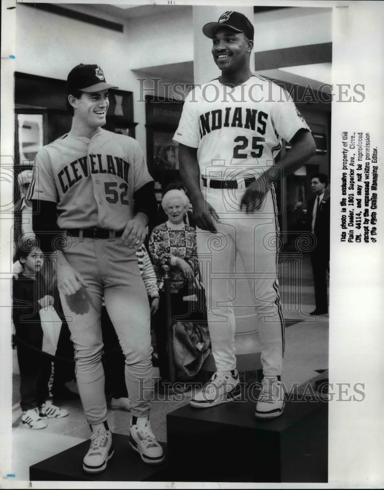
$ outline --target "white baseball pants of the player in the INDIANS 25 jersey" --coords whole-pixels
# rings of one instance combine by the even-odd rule
[[[203,187],[202,191],[221,221],[215,223],[217,234],[196,230],[216,369],[236,368],[232,301],[237,291],[236,255],[239,254],[256,308],[264,376],[280,376],[285,326],[277,277],[278,223],[274,189],[268,192],[260,210],[252,214],[240,211],[245,189]]]

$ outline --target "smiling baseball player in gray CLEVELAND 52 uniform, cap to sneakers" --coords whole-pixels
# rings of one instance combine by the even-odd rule
[[[131,446],[146,463],[164,459],[148,419],[150,312],[135,253],[157,203],[138,143],[101,127],[111,87],[98,65],[72,69],[67,80],[71,130],[38,152],[29,188],[34,232],[43,251],[57,250],[58,287],[92,431],[83,460],[90,473],[105,469],[113,455],[101,364],[103,297],[125,355]]]

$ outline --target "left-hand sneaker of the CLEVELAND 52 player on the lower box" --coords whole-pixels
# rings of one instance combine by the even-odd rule
[[[96,431],[91,436],[89,451],[83,459],[83,470],[87,473],[100,473],[107,467],[107,461],[114,453],[111,431]]]

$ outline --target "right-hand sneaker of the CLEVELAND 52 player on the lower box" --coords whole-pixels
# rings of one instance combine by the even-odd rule
[[[137,423],[131,425],[129,431],[129,443],[145,463],[157,465],[164,461],[163,448],[156,441],[147,418],[138,418]]]

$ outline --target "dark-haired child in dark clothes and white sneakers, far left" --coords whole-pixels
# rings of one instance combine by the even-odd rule
[[[13,279],[13,323],[16,337],[21,341],[17,343],[17,358],[22,422],[31,429],[44,429],[47,427],[44,418],[68,415],[67,410],[56,407],[49,399],[51,361],[38,351],[43,344],[39,311],[53,305],[53,297],[45,294],[41,276],[43,253],[36,241],[22,241],[17,247],[15,259],[23,268]]]

